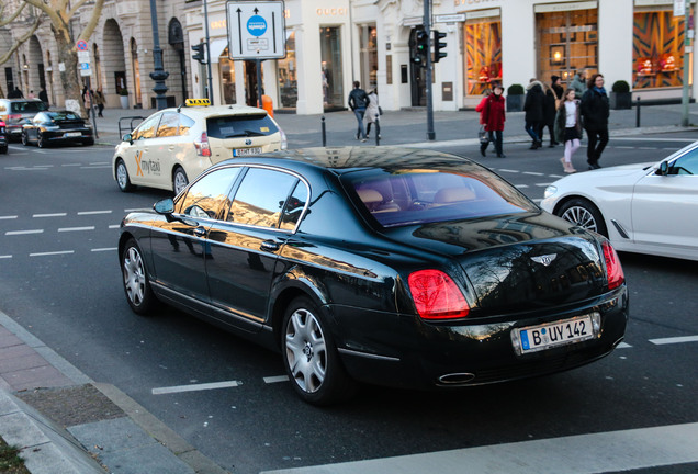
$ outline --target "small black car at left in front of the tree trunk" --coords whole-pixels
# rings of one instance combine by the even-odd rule
[[[94,136],[92,127],[75,112],[46,111],[34,115],[22,128],[22,144],[32,142],[40,148],[57,143],[94,145]]]

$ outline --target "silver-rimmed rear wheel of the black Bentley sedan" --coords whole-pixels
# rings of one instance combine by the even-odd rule
[[[319,311],[307,297],[294,300],[282,326],[281,352],[296,394],[312,405],[349,398],[356,382],[347,374]]]

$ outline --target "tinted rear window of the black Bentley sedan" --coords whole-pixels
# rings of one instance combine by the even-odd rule
[[[538,211],[516,188],[485,170],[371,169],[342,180],[384,227]]]

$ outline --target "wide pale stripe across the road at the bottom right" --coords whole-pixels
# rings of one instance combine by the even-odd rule
[[[421,474],[435,471],[440,474],[461,474],[465,471],[480,474],[624,472],[698,462],[697,443],[698,424],[694,422],[263,471],[262,474]]]

